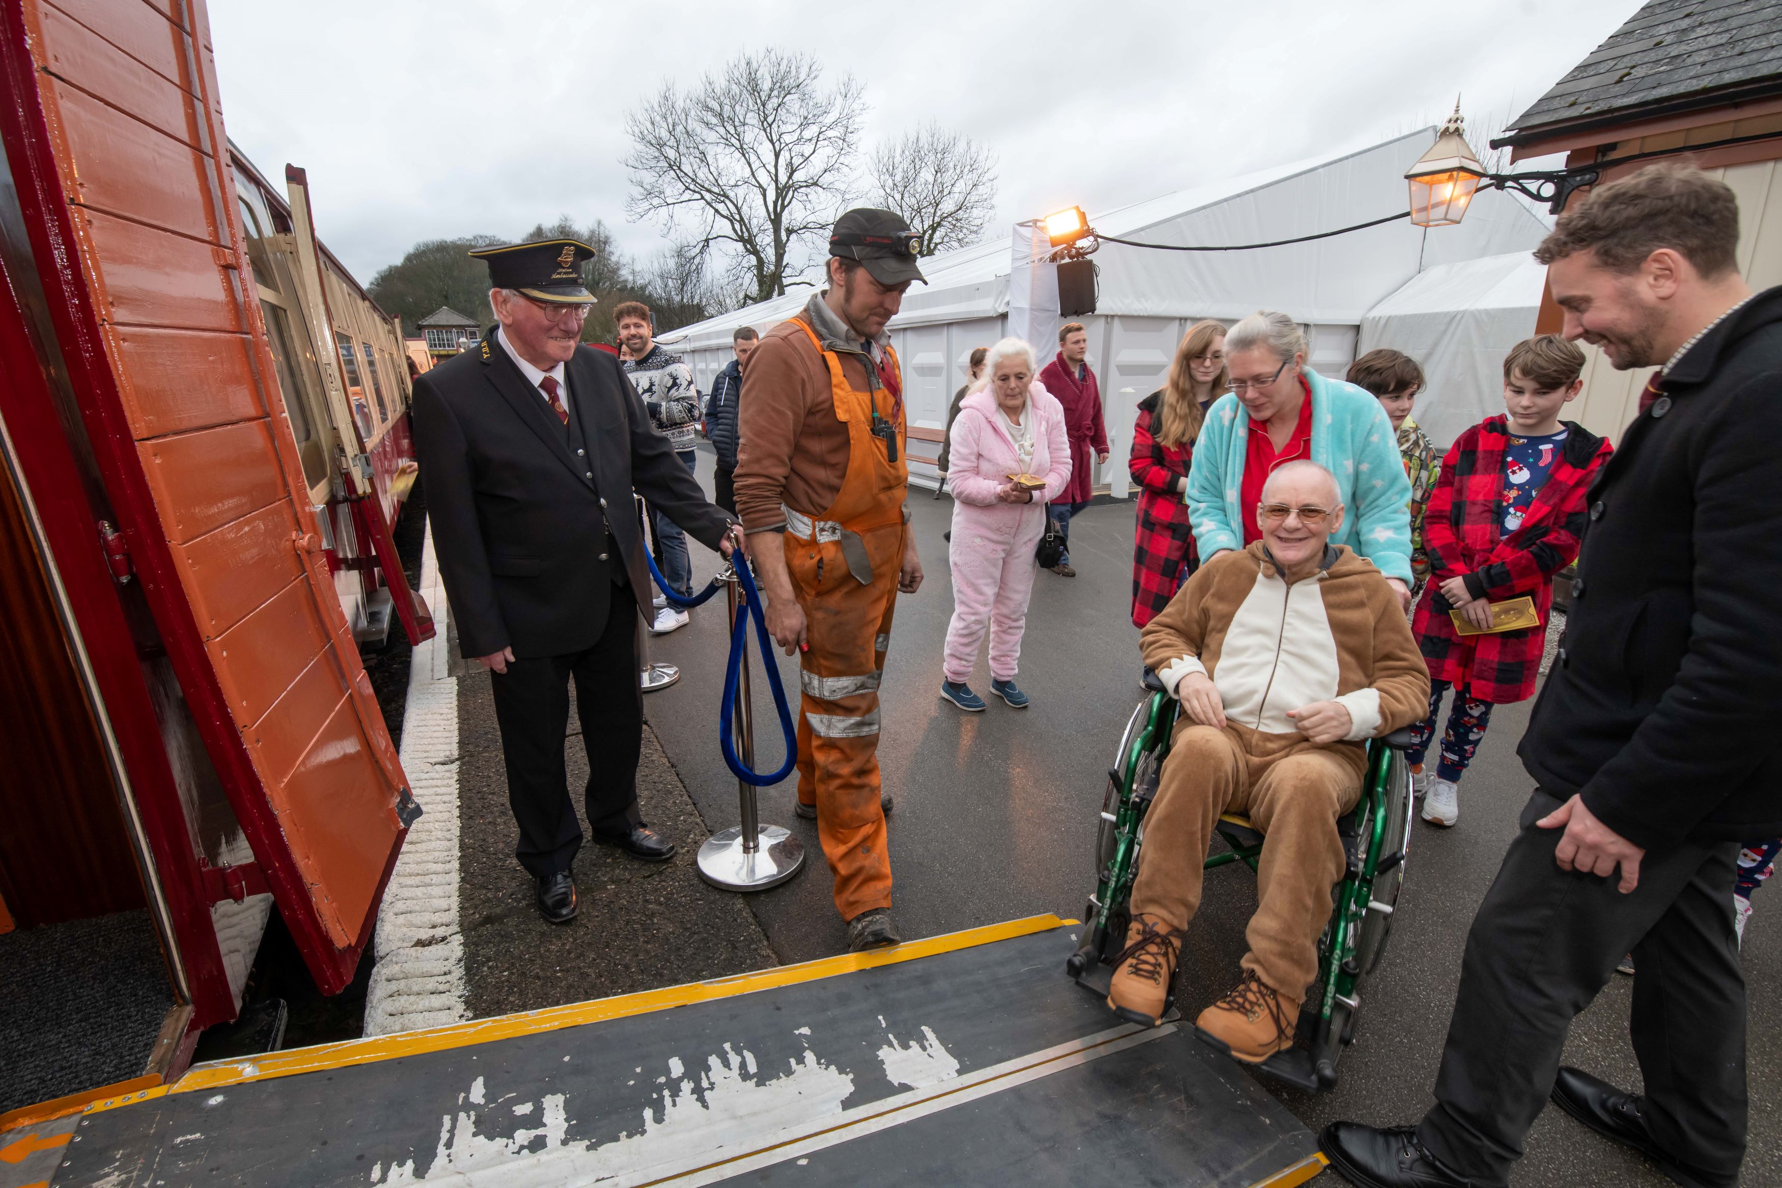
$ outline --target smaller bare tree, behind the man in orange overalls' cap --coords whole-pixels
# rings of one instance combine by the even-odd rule
[[[879,205],[921,233],[921,255],[978,242],[996,205],[996,155],[928,123],[880,144],[868,169]]]

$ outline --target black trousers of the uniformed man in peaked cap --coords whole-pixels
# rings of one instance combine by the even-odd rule
[[[508,803],[520,826],[515,857],[535,878],[567,871],[581,850],[581,823],[568,798],[563,761],[570,680],[588,752],[588,825],[595,834],[611,835],[643,821],[638,814],[643,691],[633,636],[634,606],[631,590],[615,586],[606,631],[592,648],[508,661],[506,673],[490,673],[508,768]]]

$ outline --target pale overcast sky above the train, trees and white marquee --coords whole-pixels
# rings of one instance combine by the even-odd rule
[[[323,240],[362,280],[421,239],[625,221],[622,114],[745,50],[852,71],[862,150],[923,121],[1000,159],[991,233],[1440,123],[1527,109],[1639,0],[210,0],[230,135],[308,169]],[[301,12],[299,21],[292,14]]]

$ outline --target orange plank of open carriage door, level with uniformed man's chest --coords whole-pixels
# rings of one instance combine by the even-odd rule
[[[168,540],[187,543],[287,497],[273,422],[176,433],[137,445]]]

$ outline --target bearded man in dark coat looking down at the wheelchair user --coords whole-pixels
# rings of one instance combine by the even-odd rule
[[[1654,166],[1534,253],[1568,338],[1659,365],[1590,492],[1566,634],[1518,753],[1538,787],[1467,937],[1435,1108],[1335,1122],[1353,1183],[1506,1184],[1552,1101],[1679,1184],[1745,1158],[1739,841],[1782,832],[1782,289],[1755,297],[1732,191]],[[1561,1069],[1627,951],[1643,1094]]]

